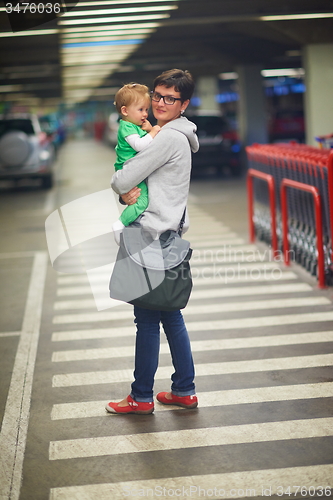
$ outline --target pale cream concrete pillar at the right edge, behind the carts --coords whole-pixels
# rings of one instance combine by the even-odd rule
[[[333,133],[333,44],[306,45],[303,67],[306,142],[318,146],[316,136]]]

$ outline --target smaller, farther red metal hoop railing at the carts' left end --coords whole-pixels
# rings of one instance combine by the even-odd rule
[[[255,227],[254,227],[254,210],[253,210],[253,178],[261,179],[267,182],[269,193],[269,204],[271,212],[271,234],[272,234],[272,250],[273,255],[277,255],[278,243],[276,235],[276,209],[275,209],[275,181],[274,177],[270,174],[265,174],[259,170],[250,168],[247,172],[247,195],[248,195],[248,215],[249,215],[249,231],[250,241],[253,243],[255,240]]]

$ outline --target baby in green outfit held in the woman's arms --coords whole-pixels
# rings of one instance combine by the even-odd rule
[[[118,90],[115,105],[121,115],[116,146],[117,159],[115,170],[123,168],[126,160],[133,158],[139,151],[147,147],[158,134],[161,127],[152,127],[147,120],[150,107],[150,95],[146,85],[128,83]],[[120,233],[125,226],[129,226],[148,207],[148,187],[145,181],[137,186],[141,189],[139,198],[134,205],[128,205],[122,212],[119,220],[113,226],[113,235],[120,243]]]

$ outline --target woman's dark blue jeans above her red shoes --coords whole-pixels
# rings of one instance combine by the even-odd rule
[[[175,372],[171,391],[176,396],[195,394],[194,364],[189,336],[180,311],[153,311],[134,306],[136,323],[135,369],[131,396],[153,401],[154,377],[160,350],[160,323],[166,334]]]

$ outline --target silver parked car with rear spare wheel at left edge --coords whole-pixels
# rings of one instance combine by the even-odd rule
[[[53,184],[54,147],[36,115],[0,115],[0,179],[41,179]]]

